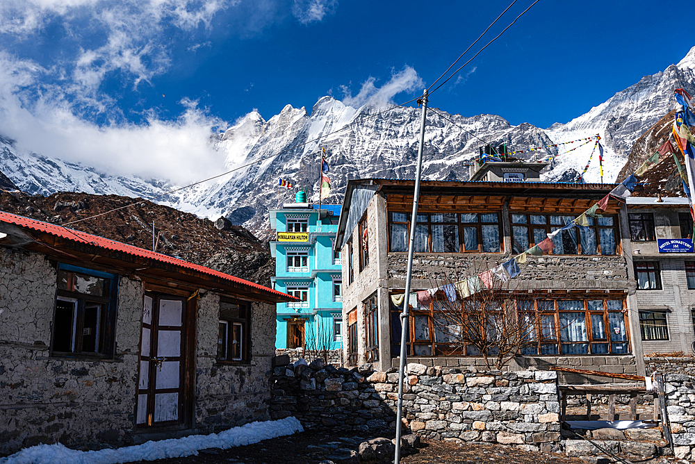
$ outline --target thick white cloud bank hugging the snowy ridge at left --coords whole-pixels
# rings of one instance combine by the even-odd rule
[[[154,113],[142,124],[99,126],[75,114],[59,88],[35,88],[45,72],[35,63],[0,53],[0,121],[3,135],[17,140],[19,151],[82,163],[112,175],[136,174],[174,183],[196,181],[224,171],[224,154],[211,145],[211,134],[226,124],[183,100],[174,120]]]

